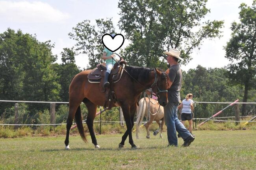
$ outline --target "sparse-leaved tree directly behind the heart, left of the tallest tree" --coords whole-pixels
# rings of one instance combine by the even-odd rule
[[[73,28],[69,37],[76,40],[76,51],[78,54],[85,54],[89,58],[89,67],[93,69],[98,63],[102,63],[102,51],[104,46],[101,37],[106,33],[115,33],[112,18],[96,20],[96,26],[91,25],[90,20],[84,20]]]

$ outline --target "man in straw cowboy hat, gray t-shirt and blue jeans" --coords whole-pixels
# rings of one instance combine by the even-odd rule
[[[182,83],[182,71],[178,65],[178,60],[183,59],[180,58],[180,51],[177,49],[171,49],[164,53],[167,54],[167,62],[170,64],[167,74],[170,78],[169,84],[171,85],[168,89],[168,104],[163,107],[165,113],[165,125],[167,127],[168,146],[178,146],[178,139],[176,136],[177,131],[182,139],[184,139],[182,146],[186,147],[195,140],[195,137],[193,137],[184,127],[177,116],[177,107],[180,101],[180,89]]]

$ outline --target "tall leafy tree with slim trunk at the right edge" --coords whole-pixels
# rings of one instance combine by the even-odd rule
[[[243,102],[247,102],[248,91],[256,88],[256,1],[251,7],[242,3],[239,8],[240,22],[232,23],[225,57],[232,61],[227,66],[228,76],[232,83],[244,86]],[[245,109],[243,104],[242,116],[246,115]]]

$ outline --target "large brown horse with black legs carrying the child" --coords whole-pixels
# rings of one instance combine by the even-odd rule
[[[129,136],[129,143],[132,148],[137,148],[132,139],[132,128],[134,126],[134,114],[137,108],[139,95],[145,89],[152,88],[154,93],[158,95],[158,101],[161,106],[168,103],[167,88],[169,88],[169,78],[165,72],[158,71],[158,69],[149,69],[144,67],[126,66],[122,78],[116,83],[112,84],[112,89],[116,94],[117,102],[109,103],[109,108],[120,106],[123,111],[124,120],[126,122],[127,130],[122,136],[122,141],[119,148],[124,147],[124,141]],[[91,135],[92,143],[95,148],[98,146],[94,131],[93,120],[96,114],[97,106],[103,106],[105,103],[105,93],[101,92],[102,87],[97,83],[90,83],[88,81],[88,74],[91,70],[82,71],[76,76],[69,86],[69,116],[67,118],[67,134],[65,139],[65,148],[69,149],[69,130],[72,121],[75,118],[78,131],[83,141],[87,142],[86,134],[83,129],[80,103],[85,103],[88,109],[87,126]]]

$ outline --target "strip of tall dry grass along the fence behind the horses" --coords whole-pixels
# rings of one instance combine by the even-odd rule
[[[39,114],[40,115],[40,114]],[[40,116],[39,116],[40,117]],[[247,118],[250,119],[250,118]],[[244,122],[243,122],[244,123]],[[243,123],[236,125],[234,122],[215,122],[208,121],[202,126],[197,126],[194,130],[240,130],[244,127],[246,129],[256,130],[256,121],[249,123],[246,126],[243,126]],[[199,124],[199,123],[198,123]],[[185,126],[188,128],[188,122],[186,121]],[[83,124],[84,130],[89,135],[89,130],[86,124]],[[135,129],[135,126],[133,130]],[[143,132],[146,131],[145,127],[140,128]],[[150,132],[153,132],[158,129],[157,123],[152,123],[150,125]],[[100,123],[94,123],[94,130],[96,134],[100,132]],[[107,123],[102,122],[101,125],[101,134],[123,134],[126,131],[126,125],[120,126],[119,123]],[[163,126],[163,132],[166,131],[166,126]],[[33,130],[31,127],[20,127],[18,130],[14,130],[13,126],[0,126],[0,137],[3,138],[13,138],[13,137],[22,137],[22,136],[50,136],[50,135],[65,135],[66,134],[66,125],[58,125],[55,128],[52,126],[37,126],[37,129]],[[70,130],[70,135],[79,135],[78,129],[74,128]]]

